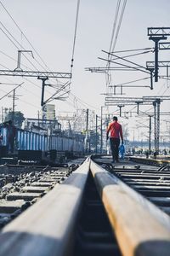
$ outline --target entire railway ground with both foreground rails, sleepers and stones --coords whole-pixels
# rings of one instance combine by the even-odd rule
[[[168,160],[0,169],[0,255],[169,255]]]

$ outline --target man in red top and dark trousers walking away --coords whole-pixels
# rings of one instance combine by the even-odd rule
[[[119,145],[120,145],[120,137],[122,139],[123,144],[123,137],[122,137],[122,125],[117,122],[117,117],[113,117],[113,122],[111,122],[107,129],[107,140],[109,138],[110,132],[110,142],[111,142],[111,154],[113,158],[113,162],[118,162],[118,154],[119,154]]]

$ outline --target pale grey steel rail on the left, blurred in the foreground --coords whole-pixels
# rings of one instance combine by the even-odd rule
[[[71,255],[89,163],[87,159],[65,183],[5,226],[0,234],[1,256]]]

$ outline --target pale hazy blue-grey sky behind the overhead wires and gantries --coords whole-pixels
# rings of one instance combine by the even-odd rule
[[[64,102],[59,100],[51,102],[55,104],[57,115],[63,112],[74,112],[76,108],[89,108],[100,114],[101,106],[105,106],[105,74],[90,73],[85,70],[85,67],[106,66],[106,61],[100,60],[99,57],[107,58],[102,50],[108,51],[110,48],[116,4],[116,0],[80,0],[74,65],[71,85],[68,88],[71,93]],[[4,7],[14,20],[11,20]],[[147,36],[147,27],[170,26],[169,9],[169,0],[127,0],[115,51],[154,47],[154,43]],[[43,68],[45,68],[51,72],[70,73],[76,13],[77,0],[2,0],[0,4],[0,68],[14,70],[17,67],[18,49],[23,47],[26,50],[32,50],[34,55],[34,59],[29,53],[26,54],[27,59],[21,55],[20,67],[23,70],[44,71]],[[20,29],[14,24],[14,21]],[[26,38],[31,44],[27,42]],[[117,55],[123,56],[127,53]],[[159,52],[160,61],[168,61],[169,56],[169,50]],[[134,56],[128,60],[145,67],[146,61],[154,61],[154,53]],[[161,69],[160,74],[163,73],[165,70]],[[111,84],[144,79],[145,75],[147,77],[147,74],[141,72],[115,71],[111,73]],[[24,82],[16,90],[18,99],[15,100],[15,109],[23,112],[25,117],[36,118],[38,110],[41,109],[41,80],[7,76],[1,76],[0,79],[0,83],[2,83],[0,84],[0,98],[6,92],[13,90],[15,84]],[[60,86],[60,84],[65,83],[65,79],[58,81],[53,79],[49,80],[48,83]],[[150,80],[146,79],[137,83],[137,85],[141,84],[150,85]],[[170,84],[167,80],[159,79],[158,83],[154,83],[154,90],[150,90],[150,88],[124,88],[123,96],[165,96],[170,95],[169,88]],[[54,91],[54,88],[48,86],[45,90],[45,99],[51,96]],[[169,111],[168,106],[169,101],[161,102],[161,111]],[[4,97],[0,101],[0,109],[2,107],[11,108],[12,98]],[[130,112],[132,108],[133,106],[126,107],[123,111]],[[147,111],[150,108],[152,106],[141,107],[140,110]],[[116,107],[111,107],[109,110],[104,108],[103,110],[104,113],[106,111],[111,114],[117,113]],[[136,111],[135,108],[134,111]],[[119,119],[129,125],[130,131],[133,131],[133,136],[139,137],[139,131],[136,130],[135,126],[136,121],[139,120],[139,122],[148,124],[148,118],[142,117],[141,120],[141,117],[137,117],[136,114],[132,119],[128,115],[127,118]],[[162,116],[161,119],[163,119],[161,122],[163,131],[168,124],[165,120],[169,121],[170,116]],[[131,137],[133,136],[131,134]]]

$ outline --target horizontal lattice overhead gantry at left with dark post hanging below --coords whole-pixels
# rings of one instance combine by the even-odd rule
[[[71,73],[52,73],[52,72],[38,72],[38,71],[27,71],[17,68],[15,70],[0,70],[1,76],[14,76],[14,77],[30,77],[42,79],[42,99],[41,106],[45,104],[44,102],[44,89],[45,89],[45,81],[47,79],[71,79]]]

